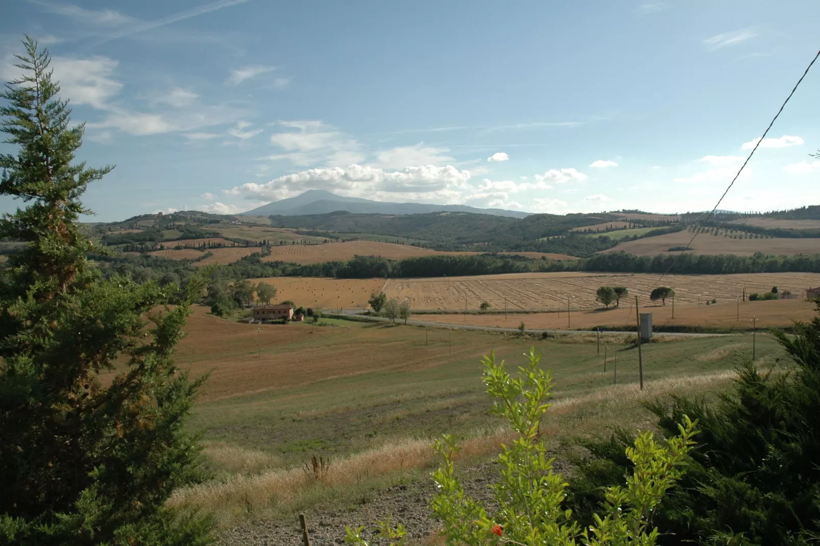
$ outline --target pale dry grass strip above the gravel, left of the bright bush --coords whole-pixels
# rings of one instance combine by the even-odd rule
[[[460,458],[484,457],[512,439],[506,429],[482,432],[461,443]],[[248,516],[260,517],[293,504],[308,489],[344,489],[376,476],[432,466],[435,453],[430,439],[395,440],[350,457],[330,462],[321,480],[303,468],[277,468],[258,474],[242,473],[221,482],[177,489],[168,503],[172,507],[204,509],[225,524]]]

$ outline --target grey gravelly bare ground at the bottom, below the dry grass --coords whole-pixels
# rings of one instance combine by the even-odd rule
[[[466,469],[460,473],[462,485],[472,498],[488,501],[493,491],[488,487],[498,476],[494,464]],[[376,494],[370,502],[362,504],[353,512],[340,511],[338,507],[318,506],[305,512],[307,531],[311,546],[344,544],[344,526],[367,526],[373,521],[390,516],[391,522],[401,523],[407,529],[408,542],[427,544],[435,535],[438,524],[430,516],[430,498],[435,493],[432,480],[410,485],[396,485]],[[369,535],[368,535],[369,539]],[[254,521],[225,530],[221,546],[299,546],[302,530],[296,517],[292,521]]]

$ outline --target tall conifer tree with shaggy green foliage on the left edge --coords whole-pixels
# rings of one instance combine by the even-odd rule
[[[100,249],[80,198],[112,167],[74,162],[84,126],[70,125],[48,52],[23,43],[24,75],[0,95],[18,148],[0,155],[0,195],[27,203],[0,238],[28,243],[0,271],[0,544],[206,544],[207,518],[163,507],[197,477],[182,423],[203,380],[172,359],[189,305],[159,307],[168,287],[103,280],[89,263]]]

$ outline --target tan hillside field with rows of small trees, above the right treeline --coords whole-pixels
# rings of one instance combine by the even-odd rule
[[[820,253],[820,239],[730,239],[723,235],[699,234],[695,242],[689,244],[692,234],[687,231],[678,231],[646,239],[626,241],[615,248],[605,250],[605,253],[619,253],[624,251],[637,256],[655,256],[667,254],[669,248],[690,246],[693,254],[736,254],[751,256],[761,252],[777,256],[792,256],[794,254]]]

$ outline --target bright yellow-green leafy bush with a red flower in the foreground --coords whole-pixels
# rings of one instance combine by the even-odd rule
[[[444,464],[433,474],[438,488],[430,503],[444,530],[447,544],[483,546],[485,544],[656,544],[660,531],[651,519],[664,495],[684,475],[686,457],[695,442],[695,423],[683,417],[679,436],[658,441],[651,432],[641,433],[634,445],[624,449],[635,466],[625,485],[604,491],[602,515],[594,516],[593,526],[581,526],[572,511],[563,507],[567,484],[553,472],[553,459],[546,457],[540,439],[541,418],[549,408],[546,399],[553,387],[549,371],[539,366],[540,353],[531,348],[529,365],[512,377],[497,364],[494,353],[485,357],[484,384],[494,398],[493,412],[507,419],[518,438],[503,446],[498,457],[501,479],[494,485],[497,510],[494,513],[467,497],[455,475],[454,460],[458,446],[445,435],[435,443]],[[364,527],[347,528],[345,542],[367,546]],[[389,519],[377,530],[388,544],[405,544],[402,526],[393,529]]]

